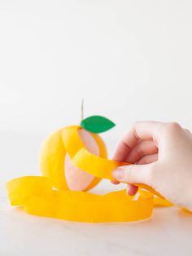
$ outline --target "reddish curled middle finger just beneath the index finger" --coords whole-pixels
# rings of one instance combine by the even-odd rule
[[[135,163],[146,155],[152,155],[158,152],[153,140],[140,140],[137,145],[132,149],[126,161]]]

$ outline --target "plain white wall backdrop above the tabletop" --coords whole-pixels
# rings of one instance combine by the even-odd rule
[[[0,0],[0,131],[102,114],[192,128],[190,0]]]

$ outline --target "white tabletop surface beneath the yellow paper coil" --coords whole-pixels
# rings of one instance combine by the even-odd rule
[[[8,204],[5,183],[39,174],[41,135],[0,135],[0,255],[192,255],[192,214],[156,208],[135,223],[74,223],[39,218]],[[114,189],[104,181],[94,192]],[[119,189],[119,187],[116,187]]]

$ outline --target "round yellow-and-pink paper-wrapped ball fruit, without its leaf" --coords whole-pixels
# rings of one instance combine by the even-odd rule
[[[44,176],[52,179],[59,190],[87,191],[100,179],[72,164],[72,157],[81,148],[98,157],[107,157],[103,139],[81,126],[68,126],[48,136],[41,145],[40,169]]]

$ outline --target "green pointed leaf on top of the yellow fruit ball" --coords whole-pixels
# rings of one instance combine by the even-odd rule
[[[110,121],[106,117],[92,116],[87,117],[81,121],[81,126],[85,130],[89,130],[95,134],[111,129],[116,126],[114,122]]]

